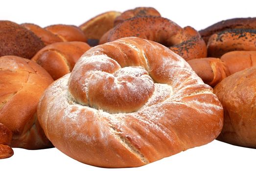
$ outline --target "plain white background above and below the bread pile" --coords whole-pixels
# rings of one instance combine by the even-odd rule
[[[180,26],[197,30],[217,21],[256,17],[256,0],[1,0],[0,20],[31,22],[42,27],[51,24],[80,25],[110,10],[123,12],[140,6],[156,8],[163,17]],[[186,150],[171,157],[129,171],[256,171],[256,150],[219,141]],[[56,148],[14,149],[14,156],[0,160],[0,171],[98,171],[106,170],[77,162]],[[119,170],[119,169],[117,169]]]

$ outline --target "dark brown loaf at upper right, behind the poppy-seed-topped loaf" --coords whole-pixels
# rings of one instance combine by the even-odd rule
[[[235,18],[224,21],[219,21],[203,30],[199,33],[206,43],[208,43],[209,37],[219,31],[233,28],[250,28],[256,29],[256,18]]]

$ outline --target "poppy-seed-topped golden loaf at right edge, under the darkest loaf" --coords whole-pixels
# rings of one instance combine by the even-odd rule
[[[219,58],[237,50],[256,50],[256,30],[230,29],[211,35],[207,44],[208,56]]]

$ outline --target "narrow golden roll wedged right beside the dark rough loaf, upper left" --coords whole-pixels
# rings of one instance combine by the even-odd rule
[[[48,45],[51,43],[63,42],[63,40],[59,38],[57,35],[47,31],[46,29],[36,24],[23,23],[21,25],[26,29],[32,31],[35,35],[37,35],[45,43],[45,45]]]

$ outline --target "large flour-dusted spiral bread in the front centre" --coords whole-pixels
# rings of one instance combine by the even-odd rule
[[[38,119],[70,157],[120,168],[211,142],[223,109],[180,56],[132,37],[88,50],[71,74],[47,88]]]

